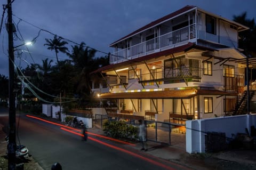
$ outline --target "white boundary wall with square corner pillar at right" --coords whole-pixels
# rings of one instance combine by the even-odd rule
[[[256,127],[256,114],[217,117],[210,119],[186,121],[186,151],[188,153],[205,152],[205,134],[207,132],[226,133],[226,137],[232,134],[246,133],[251,126]]]

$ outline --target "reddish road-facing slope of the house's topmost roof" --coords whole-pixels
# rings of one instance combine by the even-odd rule
[[[153,22],[150,22],[148,25],[143,26],[143,27],[141,27],[140,29],[137,29],[137,30],[133,31],[131,34],[126,35],[125,37],[123,37],[123,38],[121,38],[121,39],[118,39],[117,41],[115,41],[114,43],[110,44],[109,46],[111,46],[111,45],[113,45],[113,44],[115,44],[115,43],[117,43],[117,42],[119,42],[119,41],[122,41],[122,39],[125,39],[125,38],[127,38],[127,37],[133,36],[133,35],[135,35],[135,34],[137,34],[137,33],[140,33],[141,31],[146,30],[146,29],[148,29],[148,28],[150,28],[150,27],[153,27],[153,26],[155,26],[155,25],[158,25],[159,23],[161,23],[161,22],[163,22],[163,21],[165,21],[165,20],[171,19],[171,18],[175,17],[176,15],[179,15],[179,14],[181,14],[181,13],[183,13],[183,12],[189,11],[189,10],[195,8],[195,7],[196,7],[196,6],[187,5],[187,6],[183,7],[182,9],[180,9],[180,10],[178,10],[178,11],[175,11],[175,12],[173,12],[173,13],[170,13],[170,14],[168,14],[168,15],[166,15],[166,16],[160,18],[160,19],[158,19],[158,20],[155,20],[155,21],[153,21]]]

